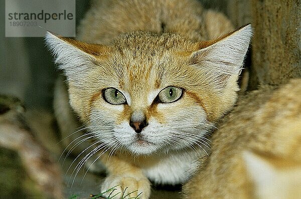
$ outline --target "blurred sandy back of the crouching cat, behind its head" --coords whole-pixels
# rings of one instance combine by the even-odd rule
[[[122,33],[176,32],[191,40],[208,40],[232,29],[221,13],[204,10],[196,0],[94,1],[79,27],[77,38],[109,43]]]

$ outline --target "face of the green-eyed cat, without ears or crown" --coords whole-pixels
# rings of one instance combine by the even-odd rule
[[[195,135],[204,135],[213,126],[201,100],[205,93],[193,88],[206,87],[195,78],[200,72],[189,67],[188,59],[163,48],[147,52],[144,45],[144,49],[126,45],[122,52],[112,52],[116,54],[100,63],[113,68],[110,74],[102,76],[104,71],[99,69],[93,72],[99,75],[90,78],[91,86],[99,91],[90,106],[92,131],[99,132],[100,139],[115,138],[112,147],[120,144],[137,154],[199,142],[201,136],[196,139]]]

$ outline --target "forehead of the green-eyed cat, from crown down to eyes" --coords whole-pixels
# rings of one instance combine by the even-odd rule
[[[193,42],[179,35],[125,34],[114,41],[106,63],[106,86],[143,98],[167,86],[185,87],[194,69],[188,60]]]

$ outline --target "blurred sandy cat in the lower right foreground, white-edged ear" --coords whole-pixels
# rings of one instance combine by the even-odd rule
[[[212,137],[186,198],[300,198],[301,79],[242,97]]]

